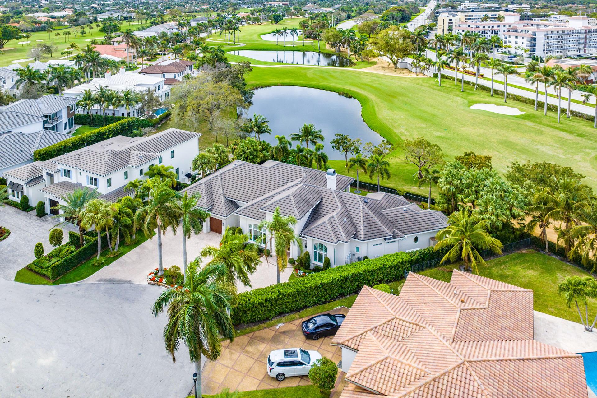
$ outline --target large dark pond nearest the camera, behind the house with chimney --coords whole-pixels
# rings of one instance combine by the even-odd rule
[[[253,117],[254,113],[269,121],[272,134],[261,135],[261,139],[270,144],[276,143],[276,134],[290,139],[290,134],[298,132],[303,124],[315,125],[324,135],[324,152],[331,160],[344,159],[344,153],[331,147],[330,140],[336,138],[335,134],[361,138],[363,144],[377,145],[383,139],[363,121],[359,101],[332,91],[294,86],[260,88],[255,90],[253,105],[244,111],[247,118]],[[292,147],[297,143],[293,141]]]

